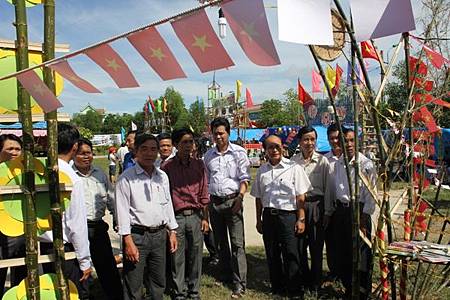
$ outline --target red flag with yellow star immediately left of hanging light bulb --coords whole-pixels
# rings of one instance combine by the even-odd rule
[[[205,10],[173,21],[172,27],[202,73],[234,66]]]

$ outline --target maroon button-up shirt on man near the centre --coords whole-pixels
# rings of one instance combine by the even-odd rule
[[[175,156],[164,162],[161,170],[169,177],[170,194],[176,212],[201,209],[208,205],[208,177],[202,160],[191,158],[188,165],[183,165]]]

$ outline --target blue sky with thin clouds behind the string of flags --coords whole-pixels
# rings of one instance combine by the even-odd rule
[[[95,44],[112,36],[130,31],[134,28],[153,23],[199,5],[195,0],[56,0],[56,42],[70,44],[75,51]],[[347,1],[341,1],[347,7]],[[420,17],[420,1],[413,0],[416,20]],[[215,73],[216,82],[221,85],[225,95],[235,90],[236,80],[249,88],[254,103],[262,103],[266,99],[282,99],[289,88],[296,88],[297,78],[307,90],[311,90],[311,69],[314,62],[307,46],[282,42],[278,40],[276,0],[265,0],[266,15],[272,38],[275,43],[281,64],[272,67],[261,67],[253,64],[240,48],[231,29],[227,28],[227,37],[222,43],[235,66]],[[206,9],[210,22],[218,32],[218,7]],[[38,5],[27,9],[28,34],[30,42],[43,40],[43,8]],[[15,39],[14,7],[6,0],[0,0],[0,39]],[[418,25],[418,22],[416,22]],[[95,108],[104,108],[107,113],[131,113],[142,110],[147,96],[157,98],[164,94],[167,87],[172,86],[179,91],[188,108],[196,98],[207,99],[207,87],[212,82],[213,72],[201,73],[187,50],[177,39],[169,23],[157,26],[166,43],[173,51],[187,78],[169,81],[161,80],[151,67],[126,39],[112,43],[127,62],[137,81],[138,88],[119,89],[109,76],[84,55],[79,55],[69,62],[73,69],[83,78],[102,91],[102,94],[88,94],[71,83],[66,82],[64,90],[58,97],[64,105],[62,112],[76,113],[87,103]],[[420,30],[414,32],[420,34]],[[400,35],[376,40],[376,45],[392,55],[392,45],[398,43]],[[57,53],[56,56],[61,56]],[[374,86],[379,84],[379,68],[374,60],[370,61],[369,74]],[[347,63],[343,57],[335,62],[346,70]],[[332,63],[334,67],[335,62]],[[316,95],[321,96],[321,95]]]

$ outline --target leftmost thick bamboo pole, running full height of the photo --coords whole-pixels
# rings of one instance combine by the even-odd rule
[[[19,71],[28,68],[28,30],[25,0],[15,0],[14,7],[17,35],[16,69]],[[23,207],[25,208],[26,293],[28,299],[39,300],[38,244],[35,210],[36,189],[33,163],[33,120],[31,117],[30,95],[19,81],[17,81],[17,96],[19,120],[22,123],[23,164],[25,168],[22,175],[22,183],[25,191],[25,203]]]

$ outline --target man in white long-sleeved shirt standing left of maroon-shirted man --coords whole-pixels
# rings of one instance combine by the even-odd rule
[[[134,149],[136,164],[126,169],[116,183],[115,207],[124,253],[124,299],[142,299],[145,284],[151,299],[162,300],[167,239],[170,252],[174,253],[178,224],[169,179],[154,166],[158,141],[151,134],[141,134],[136,136]]]

